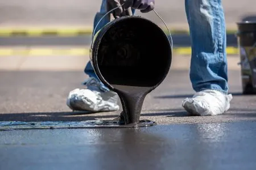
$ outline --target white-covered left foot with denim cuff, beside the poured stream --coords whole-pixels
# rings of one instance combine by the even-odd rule
[[[118,95],[108,90],[95,78],[84,83],[87,88],[69,92],[67,105],[73,111],[106,112],[118,111]]]

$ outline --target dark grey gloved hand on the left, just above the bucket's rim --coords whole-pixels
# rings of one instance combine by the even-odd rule
[[[113,10],[114,8],[118,7],[114,11],[110,12],[109,20],[112,21],[115,18],[119,18],[121,16],[131,16],[133,12],[131,11],[131,7],[123,8],[121,5],[125,3],[125,0],[106,0],[107,11]]]

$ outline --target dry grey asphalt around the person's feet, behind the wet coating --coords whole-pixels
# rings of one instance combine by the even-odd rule
[[[221,116],[190,117],[181,107],[193,95],[188,70],[171,70],[156,90],[147,95],[142,119],[157,124],[192,124],[255,120],[254,95],[241,94],[240,71],[229,71],[230,111]],[[85,114],[66,105],[69,91],[83,88],[86,76],[79,71],[0,71],[1,121],[86,121],[112,120],[119,112]]]

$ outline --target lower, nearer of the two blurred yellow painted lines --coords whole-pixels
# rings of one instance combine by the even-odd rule
[[[191,47],[174,48],[174,54],[191,55]],[[234,47],[226,48],[228,55],[238,54],[238,49]],[[0,49],[0,56],[88,56],[89,48],[71,48],[71,49],[54,49],[54,48],[31,48],[31,49]]]

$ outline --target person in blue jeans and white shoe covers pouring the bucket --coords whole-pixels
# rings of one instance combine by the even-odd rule
[[[123,6],[121,6],[123,4]],[[149,12],[154,0],[102,0],[101,10],[94,18],[94,28],[106,12],[117,7],[110,17],[103,19],[96,32],[110,20],[133,15],[135,10]],[[120,7],[121,6],[121,7]],[[185,0],[185,12],[191,36],[191,67],[189,77],[195,95],[182,102],[183,108],[193,115],[222,114],[230,108],[228,95],[228,65],[226,59],[226,26],[221,0]],[[73,111],[117,111],[118,95],[98,80],[88,62],[84,72],[89,79],[85,89],[69,93],[67,105]]]

